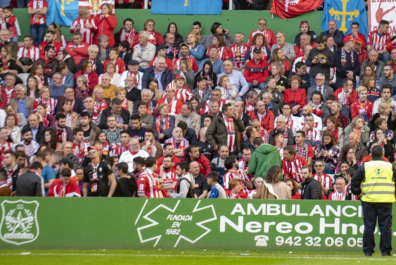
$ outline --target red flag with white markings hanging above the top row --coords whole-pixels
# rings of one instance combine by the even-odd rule
[[[314,10],[323,0],[272,0],[271,12],[281,18],[297,17]]]

